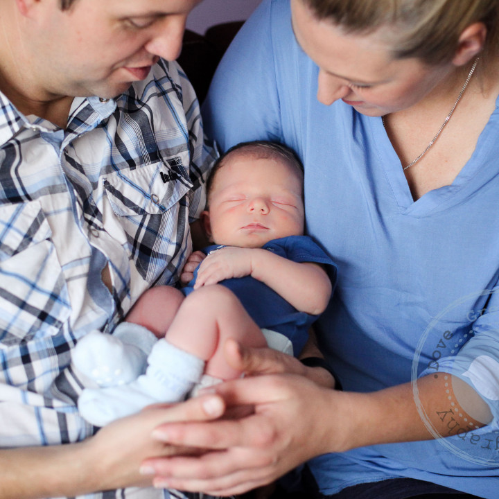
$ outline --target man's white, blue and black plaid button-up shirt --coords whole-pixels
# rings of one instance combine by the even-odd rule
[[[215,151],[175,63],[116,100],[75,98],[66,130],[0,106],[0,446],[75,442],[94,428],[71,349],[175,283]]]

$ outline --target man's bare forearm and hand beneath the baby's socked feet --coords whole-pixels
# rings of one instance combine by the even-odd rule
[[[140,470],[143,459],[199,453],[195,448],[170,446],[152,438],[154,428],[168,421],[208,421],[224,410],[219,396],[200,396],[186,403],[151,406],[76,444],[0,450],[0,496],[73,497],[107,489],[150,487],[152,476]]]

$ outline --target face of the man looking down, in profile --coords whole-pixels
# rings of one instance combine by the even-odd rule
[[[42,86],[54,96],[112,98],[175,60],[187,15],[201,0],[44,0],[27,45]]]

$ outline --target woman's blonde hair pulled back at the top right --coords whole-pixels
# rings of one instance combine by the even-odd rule
[[[499,49],[499,0],[302,0],[317,19],[330,20],[347,33],[389,27],[394,57],[427,64],[453,58],[463,30],[475,22],[487,27],[484,55]],[[392,42],[393,43],[393,42]]]

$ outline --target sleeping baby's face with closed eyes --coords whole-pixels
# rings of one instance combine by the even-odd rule
[[[209,197],[213,243],[261,247],[304,232],[301,179],[284,161],[241,156],[216,173]]]

